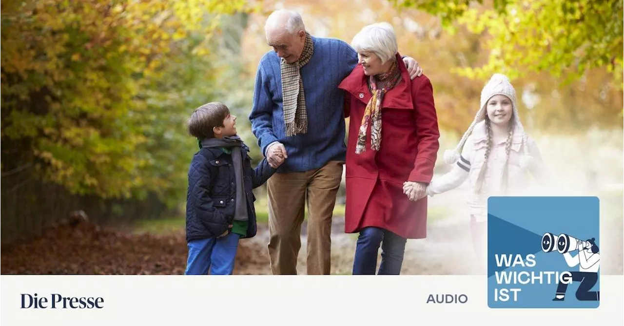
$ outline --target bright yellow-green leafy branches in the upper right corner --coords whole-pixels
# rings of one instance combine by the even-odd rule
[[[624,89],[624,1],[622,0],[393,0],[456,21],[489,36],[482,67],[464,69],[469,77],[504,71],[512,77],[547,71],[577,80],[605,67]],[[451,27],[452,28],[452,27]]]

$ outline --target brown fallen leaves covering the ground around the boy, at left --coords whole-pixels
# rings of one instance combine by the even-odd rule
[[[268,254],[263,251],[266,247],[248,247],[241,241],[235,274],[265,271]],[[184,274],[187,254],[183,230],[132,234],[89,221],[67,221],[31,241],[1,247],[0,274]]]

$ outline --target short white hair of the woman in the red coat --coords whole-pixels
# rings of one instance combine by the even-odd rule
[[[358,52],[373,52],[382,64],[392,59],[399,52],[394,28],[387,22],[378,22],[364,26],[351,41],[351,46]]]

